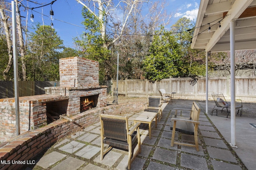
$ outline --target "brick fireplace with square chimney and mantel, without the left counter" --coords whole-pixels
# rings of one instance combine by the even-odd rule
[[[60,59],[60,87],[47,87],[45,94],[69,96],[67,116],[85,111],[84,99],[93,100],[93,106],[106,106],[107,86],[99,86],[99,63],[80,57]]]

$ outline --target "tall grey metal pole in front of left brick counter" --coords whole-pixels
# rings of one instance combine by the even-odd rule
[[[14,94],[15,94],[15,113],[16,113],[16,135],[20,135],[20,107],[19,107],[19,84],[18,84],[18,54],[17,54],[17,35],[16,35],[16,5],[12,1],[12,50],[14,67]]]

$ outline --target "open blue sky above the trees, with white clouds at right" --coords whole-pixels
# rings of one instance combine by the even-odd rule
[[[48,4],[52,2],[52,0],[40,0],[39,2]],[[200,0],[166,0],[166,2],[168,3],[168,6],[166,6],[166,12],[168,14],[173,14],[170,25],[173,25],[183,16],[196,21]],[[28,3],[30,8],[37,7],[31,2]],[[45,25],[50,25],[51,20],[47,17],[50,16],[50,10],[50,5],[34,9],[34,22],[42,23],[44,20]],[[73,38],[80,36],[82,32],[85,31],[83,28],[84,26],[81,24],[83,21],[81,14],[82,5],[78,4],[76,0],[57,0],[52,4],[52,10],[54,11],[54,20],[52,21],[54,29],[56,29],[58,35],[64,41],[64,45],[72,48]],[[29,11],[29,18],[30,14],[31,11]],[[46,16],[42,16],[41,14]],[[22,14],[22,16],[24,15],[26,16],[26,14]],[[30,26],[31,24],[32,22],[29,20],[28,25]]]

